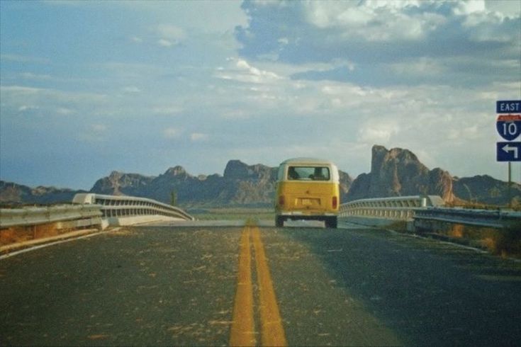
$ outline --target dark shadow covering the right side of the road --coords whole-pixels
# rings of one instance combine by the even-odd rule
[[[337,285],[412,345],[521,341],[521,265],[433,240],[386,232],[281,229]]]

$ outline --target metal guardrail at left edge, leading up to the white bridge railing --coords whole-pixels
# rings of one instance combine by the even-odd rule
[[[2,208],[0,209],[0,228],[28,227],[48,223],[58,223],[57,229],[99,226],[101,216],[100,207],[96,205]]]

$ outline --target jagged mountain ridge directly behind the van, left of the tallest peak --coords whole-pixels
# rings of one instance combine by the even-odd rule
[[[228,161],[223,176],[192,176],[181,166],[157,177],[113,172],[99,179],[91,192],[144,196],[164,203],[170,203],[175,192],[181,205],[267,206],[273,204],[276,172],[277,168],[247,165],[240,160]],[[340,189],[345,197],[352,178],[344,172],[340,178]]]

